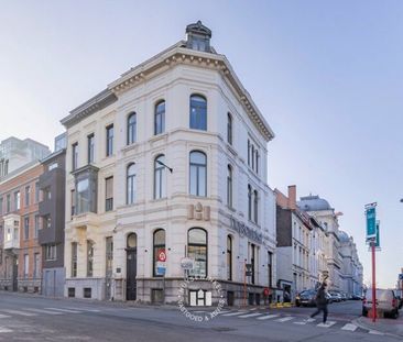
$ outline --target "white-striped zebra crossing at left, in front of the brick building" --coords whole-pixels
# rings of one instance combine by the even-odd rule
[[[100,312],[100,310],[91,308],[22,308],[22,309],[2,309],[0,308],[0,334],[10,333],[14,330],[10,327],[4,327],[6,320],[12,318],[34,318],[37,316],[61,316],[61,315],[75,315],[75,313],[88,313]]]

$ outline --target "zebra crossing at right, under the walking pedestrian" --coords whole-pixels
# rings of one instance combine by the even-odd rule
[[[207,311],[195,311],[195,312],[207,312]],[[366,330],[359,328],[352,322],[328,320],[326,323],[322,322],[320,319],[315,318],[303,318],[301,316],[292,316],[285,313],[271,313],[268,311],[258,311],[257,309],[250,310],[225,310],[218,313],[222,318],[233,318],[233,319],[255,319],[258,321],[270,321],[279,324],[295,324],[295,326],[311,326],[320,329],[340,329],[349,332],[366,332],[371,334],[384,334],[379,331]]]

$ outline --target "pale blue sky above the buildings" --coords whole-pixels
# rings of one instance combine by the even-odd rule
[[[269,185],[344,213],[371,277],[364,205],[378,202],[377,286],[403,267],[402,1],[0,0],[0,140],[53,146],[59,120],[202,20],[275,132]]]

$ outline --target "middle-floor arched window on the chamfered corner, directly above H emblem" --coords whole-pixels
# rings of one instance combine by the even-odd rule
[[[207,196],[207,157],[199,151],[192,151],[189,158],[189,192],[195,196]]]

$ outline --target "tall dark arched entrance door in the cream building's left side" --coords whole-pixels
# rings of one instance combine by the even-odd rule
[[[137,249],[137,235],[134,233],[128,236],[128,247],[126,250],[126,299],[137,299],[137,275],[138,275],[138,249]]]

